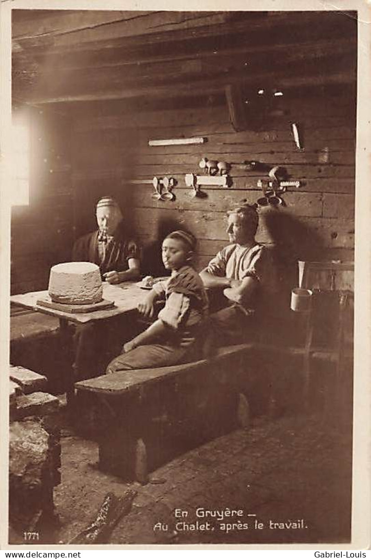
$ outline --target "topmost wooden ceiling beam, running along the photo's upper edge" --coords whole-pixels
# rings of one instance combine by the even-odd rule
[[[341,12],[274,12],[269,17],[258,18],[261,12],[215,12],[212,16],[200,16],[203,12],[189,12],[193,14],[191,20],[166,23],[166,18],[175,17],[173,14],[184,12],[154,12],[149,16],[134,18],[133,20],[111,23],[98,29],[69,32],[64,35],[39,36],[31,39],[17,39],[17,50],[39,49],[40,54],[73,50],[101,51],[106,49],[135,49],[142,47],[148,51],[149,46],[165,44],[179,44],[184,41],[211,40],[215,45],[226,40],[229,35],[233,42],[234,34],[246,34],[247,44],[262,44],[262,42],[279,42],[277,36],[283,34],[295,37],[306,34],[316,35],[320,30],[331,30],[331,36],[356,30],[356,21],[344,16]],[[198,16],[195,16],[195,13]],[[179,17],[179,16],[176,16]],[[152,21],[149,22],[149,20]],[[143,20],[147,21],[147,26]],[[165,20],[165,21],[164,21]],[[164,23],[166,25],[164,25]],[[182,29],[182,26],[185,29]],[[161,29],[161,31],[154,31]],[[339,30],[339,31],[338,31]],[[196,35],[195,35],[196,31]],[[286,32],[286,33],[285,33]],[[354,31],[355,32],[355,31]],[[218,38],[219,37],[219,38]]]

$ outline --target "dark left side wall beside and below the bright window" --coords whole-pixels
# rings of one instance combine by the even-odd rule
[[[69,260],[73,238],[69,119],[59,111],[29,111],[29,205],[12,208],[12,293],[46,289],[50,266]]]

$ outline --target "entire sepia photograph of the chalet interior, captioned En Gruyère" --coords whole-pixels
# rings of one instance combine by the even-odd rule
[[[357,8],[14,4],[7,545],[350,545]]]

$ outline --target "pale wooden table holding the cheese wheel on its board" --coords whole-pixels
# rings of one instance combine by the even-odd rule
[[[59,318],[61,344],[62,346],[65,345],[65,347],[69,347],[69,344],[72,342],[72,330],[71,328],[68,328],[69,322],[84,324],[90,321],[107,319],[113,316],[133,312],[137,309],[138,303],[143,300],[144,296],[145,290],[135,285],[135,283],[123,282],[119,285],[104,283],[103,298],[108,301],[113,301],[115,306],[110,309],[97,310],[87,313],[71,313],[37,305],[38,300],[48,299],[48,291],[32,291],[22,295],[12,295],[10,300],[16,305],[26,307],[26,309],[32,309],[38,312],[43,312],[47,315],[57,316],[57,318]],[[69,404],[71,404],[74,396],[73,385],[75,381],[75,368],[74,362],[71,367],[66,368],[66,376],[68,379],[67,400]]]

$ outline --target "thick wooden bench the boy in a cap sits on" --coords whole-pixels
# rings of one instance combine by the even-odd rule
[[[253,351],[233,345],[208,360],[77,382],[77,426],[97,440],[100,470],[143,481],[190,448],[248,427]]]

